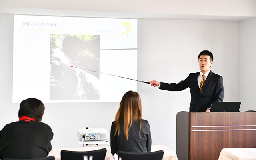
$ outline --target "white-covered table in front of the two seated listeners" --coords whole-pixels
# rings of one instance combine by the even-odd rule
[[[50,151],[48,156],[55,156],[55,160],[60,160],[60,151],[61,150],[71,150],[71,151],[89,151],[89,150],[99,150],[102,148],[107,149],[105,160],[110,160],[110,158],[113,158],[114,156],[111,154],[110,146],[106,147],[82,147],[82,148],[53,148],[52,151]],[[168,149],[166,146],[163,145],[152,145],[151,146],[151,152],[157,151],[157,150],[163,150],[164,151],[164,157],[163,160],[178,160],[177,155],[172,150]]]

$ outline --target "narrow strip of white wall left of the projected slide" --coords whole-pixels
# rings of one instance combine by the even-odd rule
[[[0,128],[6,123],[12,122],[18,117],[18,110],[12,104],[12,38],[13,38],[13,16],[11,14],[0,14]],[[15,113],[15,115],[14,115]]]

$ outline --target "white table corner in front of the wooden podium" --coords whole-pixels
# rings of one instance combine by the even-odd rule
[[[256,160],[256,148],[223,148],[218,160]]]

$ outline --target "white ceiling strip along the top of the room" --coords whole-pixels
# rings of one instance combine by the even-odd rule
[[[0,13],[241,21],[256,18],[256,0],[0,0]]]

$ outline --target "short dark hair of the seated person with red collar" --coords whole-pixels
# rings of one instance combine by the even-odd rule
[[[20,103],[19,118],[28,116],[41,121],[43,114],[44,104],[36,98],[28,98]]]

